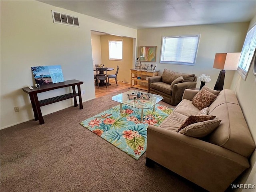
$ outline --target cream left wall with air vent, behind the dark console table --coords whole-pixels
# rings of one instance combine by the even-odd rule
[[[91,30],[137,37],[135,29],[39,1],[0,1],[0,4],[1,129],[34,118],[29,96],[22,91],[23,87],[34,85],[31,66],[61,65],[65,80],[84,81],[81,90],[86,94],[82,95],[82,101],[90,100],[95,98]],[[80,27],[54,24],[52,10],[77,16]],[[69,92],[70,88],[62,88],[38,97],[41,100]],[[43,106],[42,114],[72,105],[69,99]],[[16,106],[20,112],[14,112]]]

